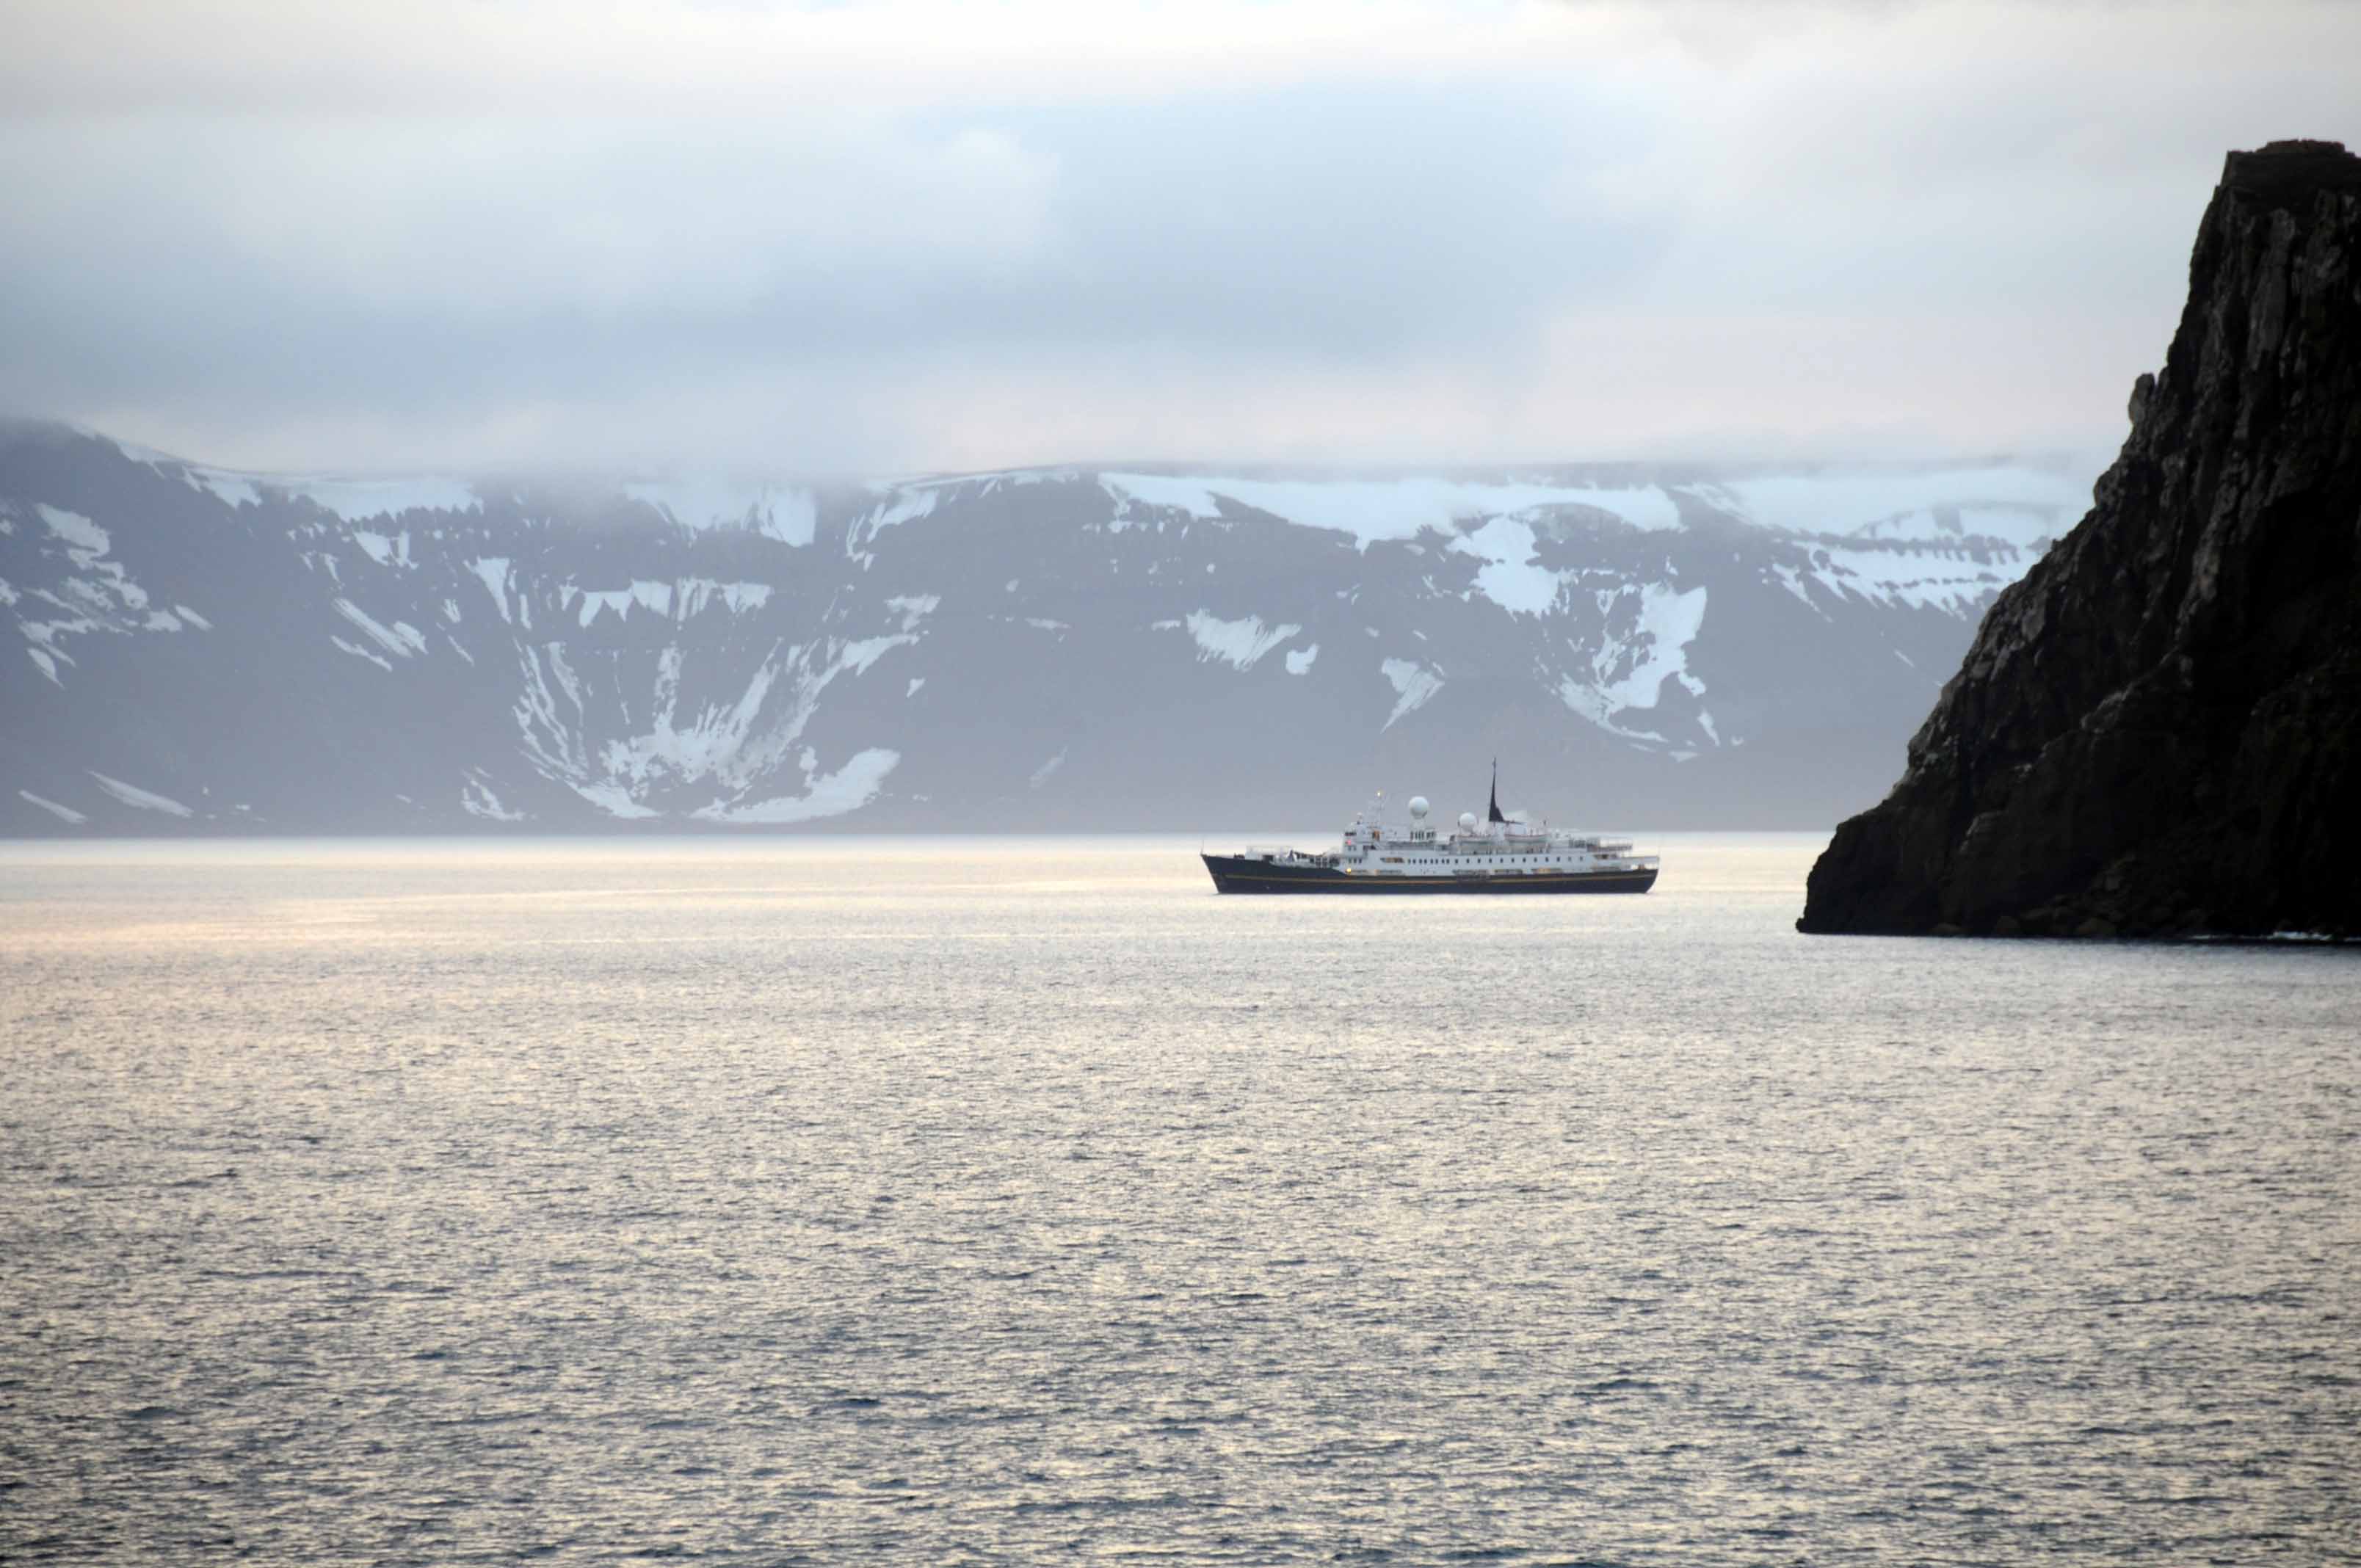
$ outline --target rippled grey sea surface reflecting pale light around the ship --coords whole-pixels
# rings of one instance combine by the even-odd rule
[[[0,848],[0,1559],[2354,1561],[2361,954]]]

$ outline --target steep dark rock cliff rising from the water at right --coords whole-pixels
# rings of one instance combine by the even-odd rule
[[[2361,158],[2229,156],[2132,418],[1799,930],[2361,935]]]

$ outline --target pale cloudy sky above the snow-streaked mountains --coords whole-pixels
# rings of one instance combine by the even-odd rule
[[[33,0],[0,406],[255,468],[2099,449],[2352,5]]]

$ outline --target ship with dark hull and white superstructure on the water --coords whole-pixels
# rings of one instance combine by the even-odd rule
[[[1379,801],[1381,803],[1381,801]],[[1353,812],[1334,850],[1247,845],[1240,855],[1202,855],[1216,893],[1646,893],[1657,857],[1634,855],[1622,838],[1551,831],[1523,812],[1499,810],[1499,763],[1483,822],[1459,812],[1459,831],[1440,836],[1426,796],[1410,798],[1410,827],[1376,822],[1379,805]]]

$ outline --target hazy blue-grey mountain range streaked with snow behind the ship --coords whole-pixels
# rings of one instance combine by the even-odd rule
[[[2038,463],[866,486],[243,475],[0,430],[0,831],[1202,829],[1502,758],[1565,824],[1875,798]]]

